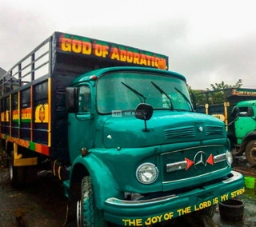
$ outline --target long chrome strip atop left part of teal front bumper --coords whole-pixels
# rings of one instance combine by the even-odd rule
[[[106,200],[106,203],[110,204],[116,204],[116,205],[140,205],[140,204],[153,204],[157,203],[159,201],[168,201],[171,199],[174,199],[175,197],[178,197],[177,195],[169,195],[166,197],[157,197],[153,199],[147,199],[147,200],[138,200],[138,201],[126,201],[126,200],[121,200],[115,197],[110,197]]]

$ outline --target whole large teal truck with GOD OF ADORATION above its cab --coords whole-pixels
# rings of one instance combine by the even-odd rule
[[[225,124],[194,113],[165,55],[54,32],[0,81],[10,183],[49,168],[78,226],[212,217],[245,191]]]

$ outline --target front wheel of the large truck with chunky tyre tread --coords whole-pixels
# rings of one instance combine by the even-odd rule
[[[81,201],[77,203],[77,225],[80,227],[106,226],[102,211],[94,206],[94,189],[90,176],[82,179]]]

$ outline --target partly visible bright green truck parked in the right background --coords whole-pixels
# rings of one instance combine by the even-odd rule
[[[213,94],[220,94],[223,102],[211,102]],[[206,105],[198,106],[198,112],[220,118],[226,124],[234,155],[246,154],[250,165],[256,165],[256,90],[228,88],[208,91]]]

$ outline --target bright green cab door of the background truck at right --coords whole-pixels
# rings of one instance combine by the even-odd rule
[[[247,133],[254,130],[256,127],[256,121],[254,117],[254,110],[250,106],[239,106],[239,117],[234,122],[235,135],[238,139],[238,144],[242,143],[243,137]]]

